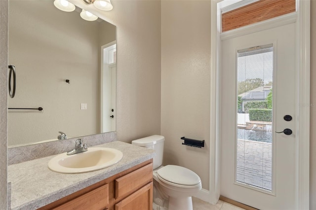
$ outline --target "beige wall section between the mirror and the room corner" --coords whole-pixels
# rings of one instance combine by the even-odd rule
[[[118,140],[160,134],[160,1],[117,0]]]

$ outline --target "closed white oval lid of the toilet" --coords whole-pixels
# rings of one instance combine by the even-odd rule
[[[169,182],[182,185],[197,185],[201,181],[196,173],[181,166],[167,165],[159,169],[157,174]]]

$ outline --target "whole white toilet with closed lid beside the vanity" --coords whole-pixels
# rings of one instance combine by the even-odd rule
[[[132,144],[154,149],[154,196],[153,210],[193,210],[192,197],[202,183],[193,171],[174,165],[161,166],[164,137],[154,135],[138,140]]]

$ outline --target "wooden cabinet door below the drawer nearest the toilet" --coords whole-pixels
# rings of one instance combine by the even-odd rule
[[[150,182],[121,200],[115,205],[115,210],[152,210],[153,182]]]

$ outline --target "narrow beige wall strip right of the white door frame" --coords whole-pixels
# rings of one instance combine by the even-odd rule
[[[310,209],[316,210],[316,0],[311,1]]]

